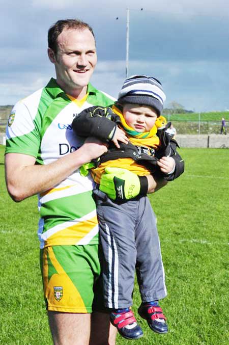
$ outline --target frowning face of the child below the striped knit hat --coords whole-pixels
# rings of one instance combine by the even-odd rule
[[[131,128],[142,133],[153,128],[157,113],[148,105],[126,103],[123,106],[123,117]]]

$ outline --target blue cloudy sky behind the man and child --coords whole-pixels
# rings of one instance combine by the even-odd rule
[[[167,99],[195,112],[229,110],[229,2],[224,0],[0,0],[0,105],[55,77],[47,31],[59,19],[79,18],[95,33],[98,64],[92,84],[113,97],[129,75],[158,78]],[[141,10],[142,9],[142,10]]]

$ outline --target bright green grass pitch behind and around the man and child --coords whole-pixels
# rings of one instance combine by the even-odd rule
[[[157,215],[168,296],[169,333],[158,335],[134,311],[144,337],[118,345],[229,343],[229,160],[226,149],[181,149],[185,173],[150,196]],[[51,344],[39,269],[37,198],[14,203],[1,176],[1,344]],[[99,335],[98,335],[99,336]],[[69,344],[70,345],[70,344]]]

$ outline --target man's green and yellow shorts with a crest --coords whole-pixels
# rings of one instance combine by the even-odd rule
[[[92,312],[100,276],[98,245],[46,247],[40,262],[47,310]]]

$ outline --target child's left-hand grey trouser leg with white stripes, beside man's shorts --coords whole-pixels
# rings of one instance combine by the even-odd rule
[[[102,275],[105,306],[111,309],[132,305],[136,263],[136,201],[117,204],[97,197],[100,241],[103,248]]]

